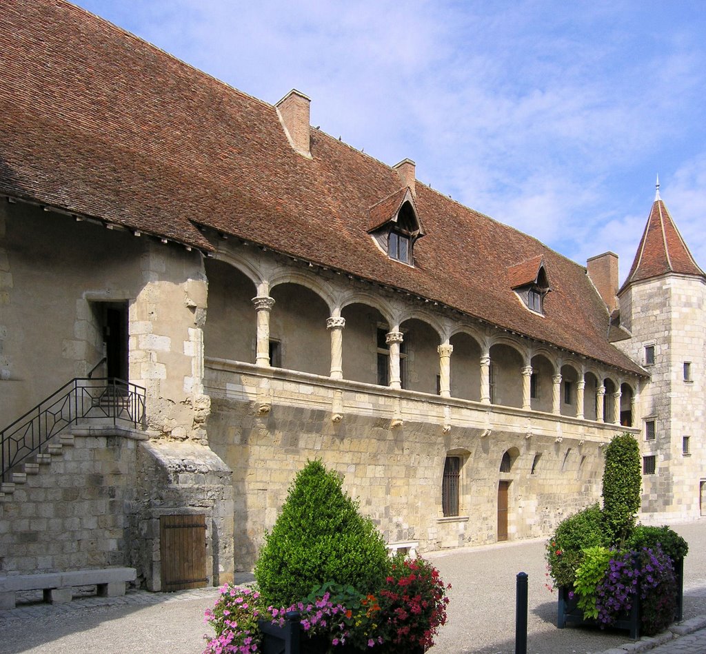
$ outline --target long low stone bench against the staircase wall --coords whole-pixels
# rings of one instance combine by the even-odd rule
[[[44,591],[44,601],[52,604],[71,602],[74,586],[96,586],[99,597],[125,595],[125,584],[135,581],[134,568],[98,568],[71,572],[18,574],[0,577],[0,609],[15,608],[18,591]]]

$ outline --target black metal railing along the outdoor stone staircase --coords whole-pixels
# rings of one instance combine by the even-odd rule
[[[0,432],[2,480],[54,436],[78,420],[145,420],[145,389],[116,377],[75,377]]]

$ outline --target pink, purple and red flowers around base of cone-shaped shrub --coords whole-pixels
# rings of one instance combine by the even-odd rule
[[[215,630],[208,654],[281,650],[296,641],[301,654],[422,653],[446,622],[446,590],[424,559],[395,559],[378,593],[361,595],[351,586],[325,583],[306,600],[277,609],[258,591],[223,586],[205,613]]]

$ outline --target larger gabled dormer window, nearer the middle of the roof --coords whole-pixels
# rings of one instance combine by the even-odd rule
[[[411,188],[402,188],[371,207],[368,234],[390,259],[414,265],[414,243],[424,236],[424,229]]]

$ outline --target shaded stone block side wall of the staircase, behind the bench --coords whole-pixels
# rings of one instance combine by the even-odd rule
[[[0,574],[130,564],[136,432],[59,437],[25,483],[0,502]]]

